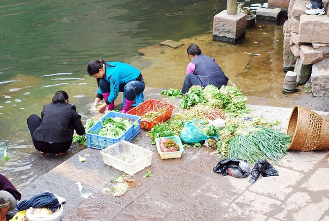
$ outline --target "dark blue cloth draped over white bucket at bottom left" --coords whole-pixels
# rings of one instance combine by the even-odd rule
[[[26,210],[30,207],[33,208],[47,207],[51,211],[55,212],[56,209],[60,207],[60,204],[57,198],[55,197],[55,195],[49,192],[45,192],[42,194],[35,195],[29,200],[24,200],[16,206],[18,211]]]

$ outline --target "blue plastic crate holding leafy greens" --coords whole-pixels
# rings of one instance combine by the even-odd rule
[[[98,130],[103,128],[102,122],[105,120],[105,118],[108,117],[110,118],[123,117],[123,118],[127,118],[131,122],[138,121],[139,124],[138,126],[131,125],[131,127],[124,134],[122,134],[121,137],[116,139],[97,135]],[[140,132],[141,132],[141,117],[131,114],[123,114],[115,111],[110,111],[100,120],[98,120],[94,125],[92,125],[92,127],[86,132],[87,145],[90,148],[105,149],[108,146],[119,142],[120,140],[125,140],[129,142],[133,140],[133,138],[136,137],[136,135],[139,134]]]

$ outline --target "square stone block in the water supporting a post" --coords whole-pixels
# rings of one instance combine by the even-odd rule
[[[247,14],[228,15],[226,10],[214,16],[213,40],[236,44],[246,36]]]

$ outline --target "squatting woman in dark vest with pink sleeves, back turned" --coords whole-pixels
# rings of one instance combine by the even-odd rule
[[[202,54],[198,45],[188,46],[187,54],[191,62],[186,69],[182,93],[186,93],[192,85],[206,87],[208,84],[212,84],[218,88],[227,85],[228,78],[215,59]]]

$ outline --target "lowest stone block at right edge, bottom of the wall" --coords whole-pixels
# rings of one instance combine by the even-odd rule
[[[313,96],[329,96],[329,58],[313,65],[311,81]]]

